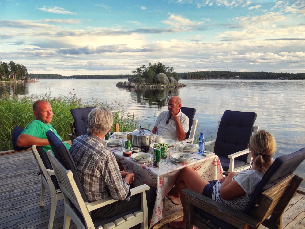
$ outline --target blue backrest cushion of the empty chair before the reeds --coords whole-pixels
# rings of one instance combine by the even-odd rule
[[[77,136],[84,135],[87,132],[87,119],[90,111],[96,107],[83,107],[71,109],[74,119]]]

